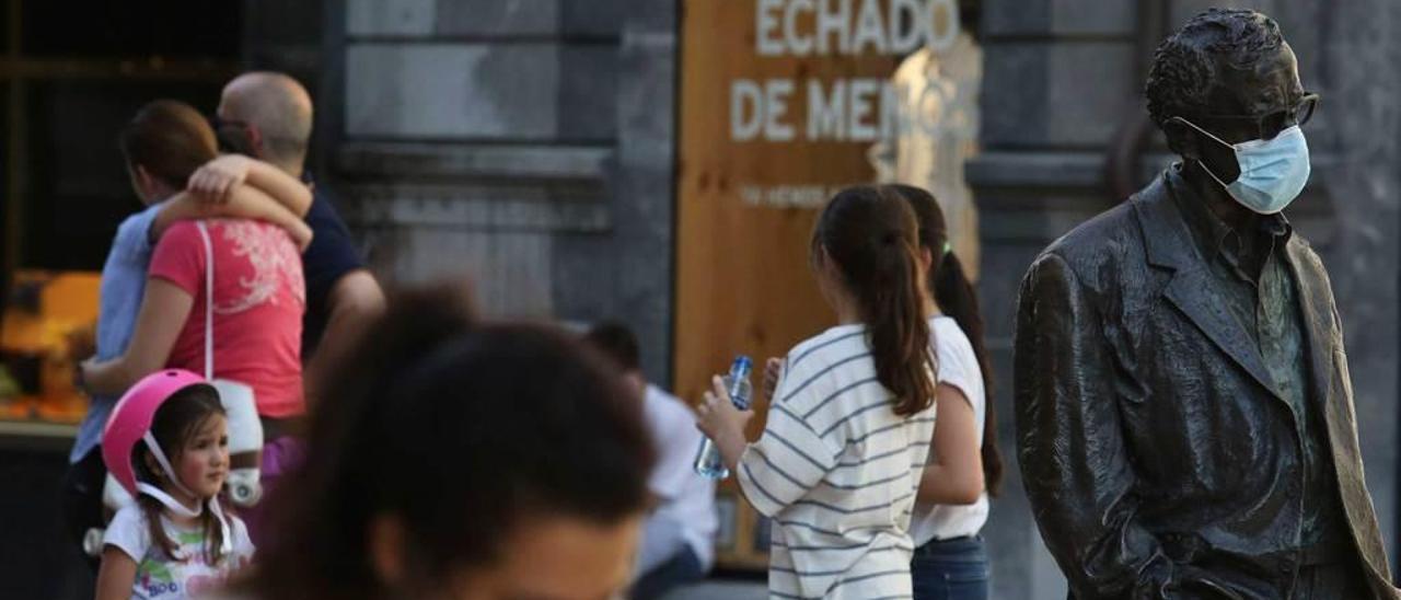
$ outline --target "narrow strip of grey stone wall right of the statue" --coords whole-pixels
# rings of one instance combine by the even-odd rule
[[[1282,1],[1279,1],[1283,4]],[[1367,486],[1397,564],[1397,257],[1401,255],[1401,4],[1390,0],[1281,6],[1317,36],[1317,86],[1330,98],[1320,168],[1337,221],[1323,261],[1346,331]],[[1304,24],[1313,24],[1313,28]],[[1316,163],[1316,168],[1318,164]],[[1395,566],[1393,566],[1394,569]]]

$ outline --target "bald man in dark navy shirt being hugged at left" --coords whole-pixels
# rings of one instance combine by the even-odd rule
[[[277,165],[311,182],[305,172],[311,139],[311,95],[297,80],[282,73],[255,71],[238,76],[219,102],[221,144]],[[301,332],[307,404],[314,407],[318,371],[349,346],[350,338],[384,308],[384,293],[366,269],[336,213],[329,191],[312,185],[307,224],[314,234],[303,254],[307,278],[307,314]]]

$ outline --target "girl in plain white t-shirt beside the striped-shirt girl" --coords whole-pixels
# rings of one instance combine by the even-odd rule
[[[1000,488],[1003,464],[978,296],[948,248],[948,229],[934,196],[909,185],[888,189],[909,203],[919,221],[929,282],[926,310],[939,360],[939,423],[911,526],[915,599],[985,600],[991,568],[979,531],[988,521],[988,496]]]

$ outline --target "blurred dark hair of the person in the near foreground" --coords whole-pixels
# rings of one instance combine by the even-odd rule
[[[577,336],[479,324],[460,289],[420,289],[325,373],[336,402],[273,492],[255,596],[385,597],[368,550],[382,516],[403,526],[406,579],[432,587],[542,514],[615,524],[647,507],[642,402]]]

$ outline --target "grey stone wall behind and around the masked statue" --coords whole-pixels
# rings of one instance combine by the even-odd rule
[[[1161,14],[1140,14],[1159,4]],[[1035,254],[1119,202],[1107,184],[1122,128],[1142,118],[1147,52],[1161,27],[1178,28],[1208,6],[1264,10],[1283,27],[1304,87],[1330,100],[1307,135],[1314,177],[1290,209],[1332,275],[1348,332],[1367,482],[1388,544],[1395,543],[1397,479],[1397,147],[1398,7],[1386,0],[1275,1],[985,0],[984,154],[968,167],[982,213],[982,299],[1012,415],[1016,290]],[[1157,25],[1161,24],[1161,25]],[[1143,29],[1159,31],[1145,38]],[[1145,46],[1143,39],[1150,39]],[[1358,102],[1358,104],[1353,104]],[[1157,133],[1129,171],[1142,185],[1171,160]],[[1027,507],[1013,453],[1013,422],[999,439],[1013,461],[993,505],[995,597],[1062,599],[1063,579]],[[1393,552],[1394,554],[1394,552]]]

